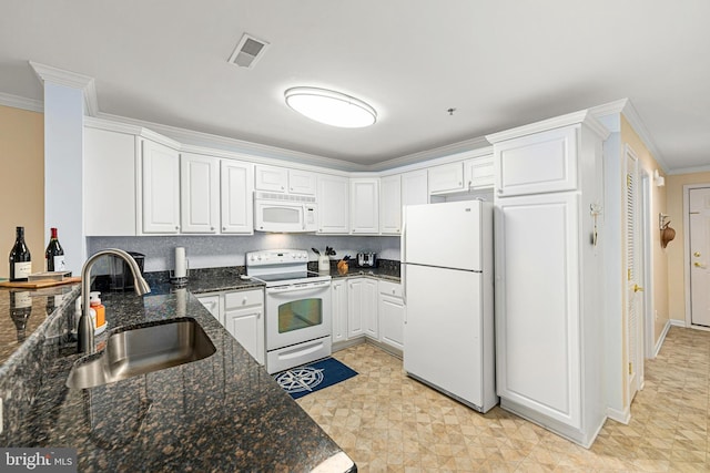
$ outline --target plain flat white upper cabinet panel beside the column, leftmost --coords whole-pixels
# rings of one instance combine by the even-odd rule
[[[87,236],[135,236],[135,136],[85,127],[83,182]]]

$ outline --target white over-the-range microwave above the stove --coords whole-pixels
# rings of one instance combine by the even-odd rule
[[[305,233],[318,225],[315,197],[306,195],[254,193],[254,229],[257,232]]]

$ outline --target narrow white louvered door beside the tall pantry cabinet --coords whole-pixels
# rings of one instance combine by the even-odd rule
[[[640,388],[642,360],[642,320],[643,298],[640,284],[643,281],[641,267],[642,246],[640,240],[640,199],[639,199],[639,167],[633,151],[627,146],[626,151],[626,320],[627,320],[627,361],[629,369],[628,388],[629,403]],[[640,284],[639,284],[640,282]]]

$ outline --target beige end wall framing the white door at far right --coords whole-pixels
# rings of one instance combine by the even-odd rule
[[[676,238],[668,244],[668,298],[670,318],[686,320],[686,270],[683,268],[686,229],[683,227],[683,186],[708,184],[710,172],[678,174],[666,178],[668,212]]]

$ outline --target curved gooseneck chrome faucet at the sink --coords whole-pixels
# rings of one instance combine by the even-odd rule
[[[148,285],[143,276],[141,276],[141,269],[138,267],[135,259],[122,249],[109,248],[102,249],[93,254],[84,266],[81,268],[81,317],[79,318],[79,327],[77,328],[77,336],[79,338],[79,352],[80,353],[93,353],[93,331],[94,326],[89,316],[89,292],[91,291],[91,268],[97,259],[104,255],[118,256],[128,263],[131,273],[133,273],[133,287],[139,296],[143,296],[151,291],[151,287]]]

